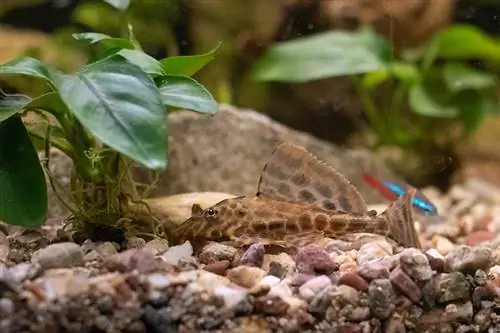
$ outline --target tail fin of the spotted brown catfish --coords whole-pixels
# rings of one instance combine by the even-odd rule
[[[421,248],[415,223],[413,222],[412,200],[417,189],[410,188],[405,194],[392,202],[389,207],[378,216],[389,224],[388,236],[404,247]]]

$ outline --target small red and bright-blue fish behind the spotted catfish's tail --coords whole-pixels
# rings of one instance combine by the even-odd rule
[[[368,174],[363,174],[363,179],[368,185],[376,189],[385,198],[393,201],[403,195],[410,187],[403,181],[379,180]],[[426,215],[437,215],[436,206],[434,206],[434,204],[425,197],[422,191],[417,191],[412,204]]]

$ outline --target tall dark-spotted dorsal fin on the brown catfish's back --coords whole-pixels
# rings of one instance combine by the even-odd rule
[[[349,181],[302,147],[283,143],[267,161],[257,195],[302,201],[330,211],[364,214],[366,203]]]

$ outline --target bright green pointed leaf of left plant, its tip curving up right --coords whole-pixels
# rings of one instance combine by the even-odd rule
[[[196,72],[198,72],[215,58],[215,55],[221,45],[222,42],[219,42],[214,49],[207,53],[189,56],[168,57],[160,60],[160,62],[167,74],[193,76],[194,74],[196,74]]]

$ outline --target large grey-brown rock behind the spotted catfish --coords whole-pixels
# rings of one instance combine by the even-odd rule
[[[216,191],[254,195],[259,175],[274,148],[281,142],[304,146],[343,173],[360,190],[368,203],[380,197],[360,178],[362,172],[392,176],[391,171],[371,152],[347,150],[292,130],[252,110],[221,105],[215,116],[190,111],[169,115],[169,163],[160,175],[152,196]],[[69,181],[71,161],[58,151],[52,153],[51,171],[63,185]],[[138,169],[141,181],[149,170]],[[49,218],[67,212],[49,189]]]

